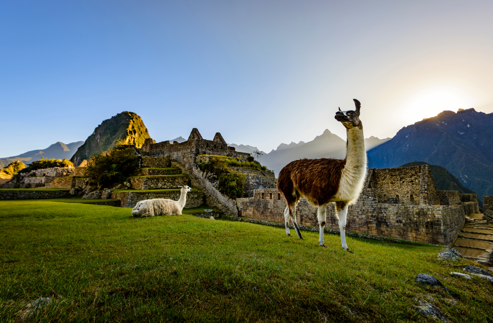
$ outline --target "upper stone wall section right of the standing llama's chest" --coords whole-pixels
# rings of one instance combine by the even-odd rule
[[[379,203],[438,205],[438,194],[428,165],[368,169],[370,187]]]

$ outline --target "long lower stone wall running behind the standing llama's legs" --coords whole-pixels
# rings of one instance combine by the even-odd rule
[[[378,203],[373,190],[365,189],[358,201],[349,207],[347,230],[450,245],[464,225],[465,216],[472,213],[477,206],[476,202],[455,206]],[[277,190],[255,190],[253,198],[238,198],[237,205],[241,217],[284,221],[286,201]],[[304,226],[318,226],[317,207],[301,198],[296,207],[296,219]],[[333,203],[327,205],[326,222],[327,228],[339,228],[339,219],[335,215]]]

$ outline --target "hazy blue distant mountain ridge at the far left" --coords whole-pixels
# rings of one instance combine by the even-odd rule
[[[20,162],[24,162],[25,164],[29,164],[31,162],[40,160],[41,157],[44,157],[45,159],[52,159],[52,158],[70,159],[72,158],[73,154],[77,151],[77,148],[79,148],[83,143],[84,143],[83,141],[76,141],[76,142],[71,142],[70,144],[64,144],[63,142],[58,141],[53,145],[50,145],[46,149],[31,150],[17,156],[0,158],[0,167],[3,168],[7,166],[9,163],[15,161],[20,161]]]

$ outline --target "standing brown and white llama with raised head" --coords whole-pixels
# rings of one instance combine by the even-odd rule
[[[345,159],[300,159],[285,165],[278,177],[278,189],[286,198],[284,222],[289,234],[289,219],[293,222],[296,234],[301,236],[296,223],[296,204],[303,196],[310,204],[317,206],[320,234],[318,242],[323,244],[325,210],[329,202],[335,202],[336,216],[339,218],[341,243],[344,250],[351,252],[346,244],[346,215],[348,206],[358,199],[366,175],[366,152],[363,138],[363,125],[359,120],[361,103],[353,99],[355,110],[336,112],[348,135]]]

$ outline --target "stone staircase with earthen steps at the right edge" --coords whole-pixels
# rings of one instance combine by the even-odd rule
[[[471,214],[460,230],[461,234],[454,242],[454,248],[466,259],[480,263],[492,262],[493,223],[483,220],[483,214]]]

